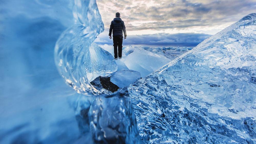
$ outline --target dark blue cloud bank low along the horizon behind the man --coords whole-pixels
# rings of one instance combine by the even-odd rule
[[[178,33],[178,34],[167,34],[158,33],[153,35],[129,35],[126,40],[123,39],[123,45],[146,45],[152,47],[158,46],[186,46],[195,47],[200,42],[210,37],[207,34],[196,34],[196,33]],[[104,40],[98,41],[97,39]],[[100,34],[95,41],[99,45],[113,45],[113,40],[109,39],[108,34],[105,32]],[[107,41],[107,42],[106,42]]]

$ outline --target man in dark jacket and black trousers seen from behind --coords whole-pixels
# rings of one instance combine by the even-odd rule
[[[114,57],[117,60],[122,58],[122,44],[123,44],[123,31],[124,31],[124,39],[126,39],[126,30],[124,21],[120,18],[120,13],[115,13],[114,20],[111,21],[110,29],[109,29],[109,38],[112,39],[111,33],[113,30],[113,43],[114,43]],[[117,50],[118,47],[118,50]]]

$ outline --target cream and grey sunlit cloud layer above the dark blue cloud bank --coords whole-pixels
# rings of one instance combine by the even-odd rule
[[[97,0],[97,4],[106,30],[120,12],[128,31],[195,29],[200,33],[205,27],[230,25],[256,9],[255,0]]]

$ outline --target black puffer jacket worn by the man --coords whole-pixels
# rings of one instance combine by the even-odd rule
[[[116,17],[114,18],[114,20],[111,21],[109,36],[111,36],[112,30],[113,30],[113,36],[118,36],[118,35],[122,36],[124,31],[124,36],[127,37],[124,21],[122,21],[120,17]]]

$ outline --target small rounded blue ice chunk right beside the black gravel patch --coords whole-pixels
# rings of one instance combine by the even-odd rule
[[[138,79],[141,79],[140,72],[124,69],[115,72],[110,77],[110,81],[120,88],[130,85]]]

